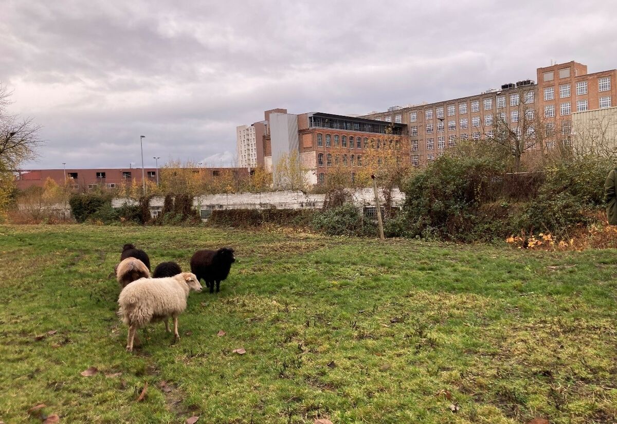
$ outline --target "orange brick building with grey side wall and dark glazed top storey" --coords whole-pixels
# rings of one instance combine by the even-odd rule
[[[408,152],[403,149],[408,141],[406,124],[322,112],[268,112],[263,135],[268,170],[275,169],[283,155],[296,150],[307,169],[309,184],[324,182],[335,168],[348,170],[354,181],[358,170],[370,165],[368,156],[375,152],[396,151],[408,160]]]

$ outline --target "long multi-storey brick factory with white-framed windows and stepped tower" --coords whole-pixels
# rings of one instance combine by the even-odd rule
[[[617,105],[617,70],[589,74],[586,65],[572,61],[537,68],[536,78],[537,83],[531,79],[505,83],[473,96],[391,107],[363,117],[406,124],[412,164],[418,166],[443,155],[458,140],[492,137],[497,119],[515,128],[521,105],[526,113],[541,113],[562,134],[573,131],[572,113]]]

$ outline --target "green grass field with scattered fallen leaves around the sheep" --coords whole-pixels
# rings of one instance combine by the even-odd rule
[[[125,242],[153,267],[185,268],[194,250],[222,245],[238,262],[221,293],[189,296],[178,343],[152,325],[130,354],[110,275]],[[77,225],[0,226],[0,250],[6,424],[41,414],[67,423],[617,422],[615,250]],[[96,375],[80,375],[89,367]]]

